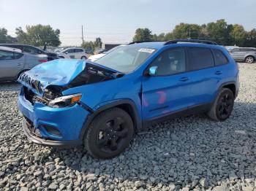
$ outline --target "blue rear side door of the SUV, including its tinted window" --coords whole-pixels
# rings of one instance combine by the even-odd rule
[[[214,68],[214,55],[206,47],[189,47],[188,74],[191,85],[189,86],[189,107],[206,106],[214,101],[214,95],[219,82],[221,69]]]

